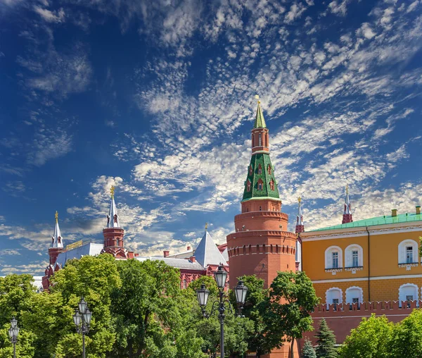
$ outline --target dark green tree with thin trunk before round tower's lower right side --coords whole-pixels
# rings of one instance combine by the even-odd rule
[[[295,340],[313,330],[311,312],[318,302],[312,281],[304,271],[279,272],[262,304],[269,345],[281,347],[283,342],[290,342],[293,358]]]

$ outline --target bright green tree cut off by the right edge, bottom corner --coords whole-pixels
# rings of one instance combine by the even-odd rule
[[[414,309],[392,328],[390,357],[422,357],[422,311]]]

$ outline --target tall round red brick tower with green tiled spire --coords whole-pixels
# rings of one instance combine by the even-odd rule
[[[236,232],[227,236],[230,286],[237,285],[239,276],[256,275],[264,279],[267,288],[277,271],[295,271],[296,235],[287,231],[288,215],[281,212],[260,101],[241,207],[242,214],[234,218]]]

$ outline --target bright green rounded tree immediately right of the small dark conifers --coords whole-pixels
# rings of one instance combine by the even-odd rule
[[[385,316],[376,317],[375,314],[372,314],[369,319],[363,318],[359,326],[352,329],[350,335],[343,342],[338,351],[339,357],[390,357],[389,345],[393,328],[394,324],[389,322]]]

